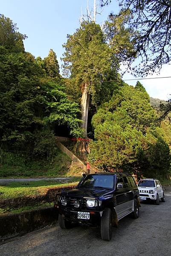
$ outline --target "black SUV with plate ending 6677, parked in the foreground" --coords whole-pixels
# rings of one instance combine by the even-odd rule
[[[100,226],[101,238],[109,241],[112,226],[128,214],[139,217],[139,190],[132,176],[124,173],[83,175],[75,189],[56,195],[59,226],[76,222]]]

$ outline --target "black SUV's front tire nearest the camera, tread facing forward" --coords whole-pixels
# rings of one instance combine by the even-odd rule
[[[101,216],[100,226],[101,239],[110,241],[112,238],[112,211],[106,208]]]

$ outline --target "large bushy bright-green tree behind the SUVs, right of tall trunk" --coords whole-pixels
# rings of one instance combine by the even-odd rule
[[[95,141],[90,143],[90,162],[130,173],[142,172],[145,177],[166,177],[171,155],[156,120],[144,88],[125,84],[93,116]]]

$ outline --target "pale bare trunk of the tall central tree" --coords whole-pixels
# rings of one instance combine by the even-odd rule
[[[88,119],[88,106],[90,101],[90,94],[87,90],[87,84],[84,86],[84,91],[81,98],[81,120],[82,122],[82,128],[84,129],[84,137],[87,137],[87,119]]]

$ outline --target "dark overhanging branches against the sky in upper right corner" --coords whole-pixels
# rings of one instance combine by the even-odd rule
[[[104,6],[111,0],[100,2]],[[163,64],[171,61],[170,0],[119,0],[119,6],[122,12],[130,10],[132,14],[127,21],[128,28],[139,31],[134,52],[129,55],[129,64],[134,61],[136,53],[139,65],[132,71],[144,76],[159,72]]]

